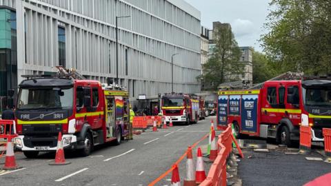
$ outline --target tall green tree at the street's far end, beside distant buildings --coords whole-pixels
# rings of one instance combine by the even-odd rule
[[[198,79],[203,78],[203,83],[212,85],[211,89],[224,82],[239,80],[239,74],[243,74],[243,65],[239,59],[241,50],[230,27],[217,26],[213,32],[214,49],[210,59],[205,63],[203,74]]]

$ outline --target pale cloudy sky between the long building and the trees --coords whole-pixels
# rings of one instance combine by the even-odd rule
[[[270,0],[185,0],[201,12],[201,25],[212,28],[213,21],[230,23],[239,46],[261,51],[259,41],[268,15]]]

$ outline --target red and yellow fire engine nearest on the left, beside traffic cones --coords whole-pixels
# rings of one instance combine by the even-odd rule
[[[61,68],[63,70],[63,68]],[[121,143],[128,135],[128,92],[118,85],[74,78],[71,73],[24,76],[19,85],[16,148],[28,158],[64,149],[88,156],[95,145]]]

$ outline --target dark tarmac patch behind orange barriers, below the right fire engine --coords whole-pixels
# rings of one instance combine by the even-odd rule
[[[243,149],[245,158],[241,159],[238,167],[242,185],[304,185],[331,171],[331,164],[321,161],[324,157],[316,149],[308,155],[301,155],[296,153],[299,152],[297,148],[283,149],[272,143],[268,143],[266,148],[269,152]]]

